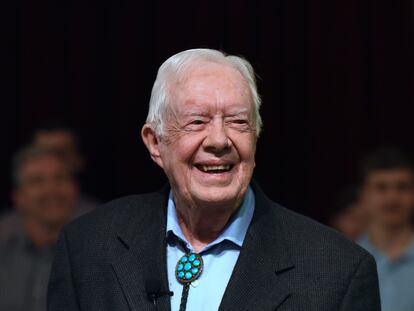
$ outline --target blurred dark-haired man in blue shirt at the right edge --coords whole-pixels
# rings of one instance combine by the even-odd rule
[[[361,202],[370,217],[359,244],[376,259],[383,311],[414,310],[414,167],[395,149],[369,154]]]

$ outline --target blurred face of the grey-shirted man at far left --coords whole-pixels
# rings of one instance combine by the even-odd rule
[[[28,160],[20,169],[15,205],[23,216],[45,226],[61,226],[72,216],[77,186],[63,160],[44,155]]]

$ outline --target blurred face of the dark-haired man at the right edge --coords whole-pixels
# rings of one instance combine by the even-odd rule
[[[372,172],[362,189],[362,204],[374,224],[409,224],[414,209],[414,177],[407,169]]]

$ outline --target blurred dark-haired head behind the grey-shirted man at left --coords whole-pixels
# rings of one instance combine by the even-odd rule
[[[84,161],[79,152],[78,139],[69,126],[59,122],[43,124],[36,129],[33,144],[60,153],[74,173],[82,171]]]

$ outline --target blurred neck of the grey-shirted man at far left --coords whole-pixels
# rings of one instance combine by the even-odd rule
[[[60,226],[45,226],[32,219],[24,219],[23,227],[27,238],[39,248],[54,245],[61,229]]]

